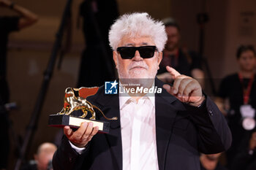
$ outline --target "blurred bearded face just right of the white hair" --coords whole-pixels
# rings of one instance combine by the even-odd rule
[[[165,49],[169,51],[176,50],[180,39],[178,29],[175,26],[167,26],[165,27],[165,31],[168,37]]]

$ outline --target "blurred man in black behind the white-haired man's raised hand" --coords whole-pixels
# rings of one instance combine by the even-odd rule
[[[181,28],[173,18],[165,18],[163,22],[165,23],[167,42],[157,77],[164,82],[171,82],[172,79],[165,67],[172,66],[179,73],[193,77],[200,82],[200,85],[203,85],[204,73],[200,55],[195,53],[195,51],[181,47]]]

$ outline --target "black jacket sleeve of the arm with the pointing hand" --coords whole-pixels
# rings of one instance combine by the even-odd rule
[[[187,105],[189,117],[197,128],[198,149],[211,154],[227,150],[232,142],[230,128],[214,101],[206,96],[200,107]]]

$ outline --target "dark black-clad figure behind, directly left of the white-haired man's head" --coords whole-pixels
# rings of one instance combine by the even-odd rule
[[[116,0],[85,0],[80,4],[86,48],[81,56],[78,88],[100,86],[115,79],[108,30],[118,15]]]

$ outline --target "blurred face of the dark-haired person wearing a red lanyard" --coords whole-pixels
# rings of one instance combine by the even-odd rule
[[[246,50],[241,53],[240,58],[238,58],[238,63],[242,70],[251,72],[255,69],[256,56],[252,50]]]

